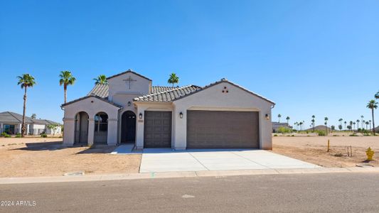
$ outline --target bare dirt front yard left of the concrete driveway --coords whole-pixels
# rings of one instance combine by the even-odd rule
[[[0,138],[0,177],[138,173],[141,155],[109,155],[114,148],[63,148],[62,138]]]

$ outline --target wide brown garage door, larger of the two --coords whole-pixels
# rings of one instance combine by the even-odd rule
[[[255,111],[187,111],[187,148],[259,148]]]

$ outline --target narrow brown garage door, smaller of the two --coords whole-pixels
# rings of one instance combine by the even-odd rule
[[[144,147],[171,147],[171,111],[145,111]]]

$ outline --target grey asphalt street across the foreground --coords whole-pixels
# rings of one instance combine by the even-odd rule
[[[0,212],[379,212],[379,173],[0,185],[0,201]]]

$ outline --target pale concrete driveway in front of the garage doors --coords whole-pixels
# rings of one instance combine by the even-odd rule
[[[145,148],[140,173],[320,168],[318,165],[262,150]]]

